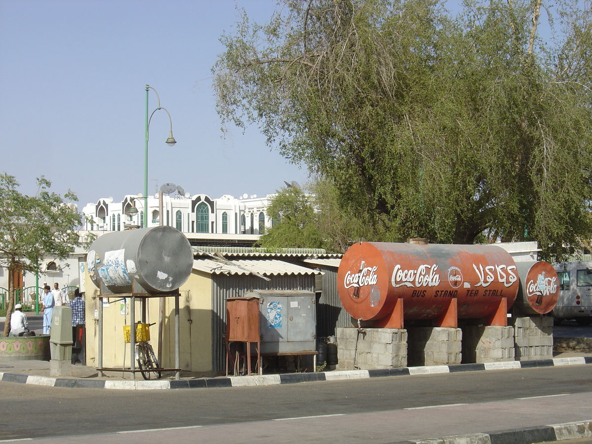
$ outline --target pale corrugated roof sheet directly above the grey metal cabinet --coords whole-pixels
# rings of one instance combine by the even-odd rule
[[[230,262],[230,261],[228,261]],[[211,274],[312,275],[322,272],[278,259],[235,259],[232,265],[215,259],[195,259],[193,268]]]

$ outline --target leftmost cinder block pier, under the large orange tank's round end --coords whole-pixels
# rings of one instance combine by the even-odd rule
[[[339,370],[407,366],[407,330],[344,328],[336,336]]]

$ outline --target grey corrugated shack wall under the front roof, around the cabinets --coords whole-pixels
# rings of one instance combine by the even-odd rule
[[[226,299],[240,297],[250,289],[314,291],[314,275],[267,276],[271,281],[252,275],[212,275],[212,370],[226,371]]]

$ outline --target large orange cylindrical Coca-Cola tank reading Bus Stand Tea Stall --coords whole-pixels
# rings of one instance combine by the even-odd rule
[[[498,246],[360,242],[343,255],[337,286],[345,310],[364,321],[391,316],[398,300],[404,319],[444,316],[453,299],[458,318],[482,318],[504,298],[511,307],[519,278]]]

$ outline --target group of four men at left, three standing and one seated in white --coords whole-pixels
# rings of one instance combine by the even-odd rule
[[[52,330],[53,307],[68,305],[72,309],[72,327],[85,324],[85,303],[78,288],[74,291],[74,299],[70,301],[65,291],[60,289],[56,282],[53,290],[44,282],[43,287],[43,334],[50,334]],[[21,336],[28,332],[27,315],[22,313],[22,305],[14,306],[14,313],[10,318],[10,333],[14,336]]]

